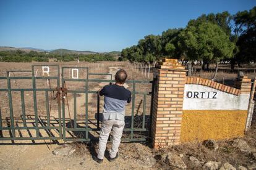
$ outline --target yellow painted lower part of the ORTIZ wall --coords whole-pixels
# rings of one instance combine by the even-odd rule
[[[181,142],[244,136],[247,110],[183,110]]]

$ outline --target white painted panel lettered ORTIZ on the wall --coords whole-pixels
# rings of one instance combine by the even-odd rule
[[[234,95],[199,84],[185,84],[183,110],[247,110],[249,94]]]

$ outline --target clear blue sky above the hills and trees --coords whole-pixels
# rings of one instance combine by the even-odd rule
[[[255,0],[0,0],[0,46],[121,51],[202,14],[254,6]]]

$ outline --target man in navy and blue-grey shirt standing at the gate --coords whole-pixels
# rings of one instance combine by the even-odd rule
[[[116,72],[116,83],[107,85],[98,92],[99,95],[104,95],[103,121],[101,124],[98,155],[93,155],[93,160],[98,163],[103,162],[111,129],[113,129],[113,140],[112,147],[109,150],[109,161],[114,161],[118,157],[118,147],[125,125],[125,107],[132,100],[131,92],[124,87],[126,78],[126,71],[121,69]]]

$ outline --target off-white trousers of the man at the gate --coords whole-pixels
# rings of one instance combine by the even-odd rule
[[[121,142],[122,131],[124,129],[124,120],[116,120],[116,119],[109,119],[103,120],[101,124],[101,131],[100,131],[100,141],[99,141],[99,149],[98,149],[98,158],[103,159],[104,153],[106,150],[106,144],[108,142],[108,137],[113,129],[113,139],[112,139],[112,147],[109,150],[110,158],[116,157],[116,153],[118,152],[118,147]]]

